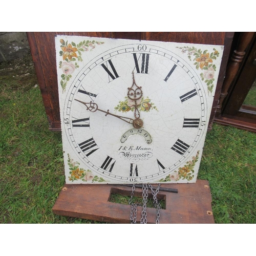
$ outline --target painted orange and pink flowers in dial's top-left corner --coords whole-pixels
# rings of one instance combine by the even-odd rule
[[[83,40],[79,44],[71,42],[71,44],[63,39],[60,39],[60,48],[59,56],[62,56],[63,61],[59,61],[59,68],[62,70],[63,74],[61,75],[61,87],[62,92],[65,92],[67,83],[72,77],[72,73],[75,69],[79,68],[78,61],[82,61],[82,52],[92,51],[96,45],[102,45],[104,42],[98,42],[95,40]]]

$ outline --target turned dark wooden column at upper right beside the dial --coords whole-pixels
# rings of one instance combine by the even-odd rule
[[[230,59],[230,63],[227,67],[226,77],[223,82],[220,99],[216,110],[216,116],[219,116],[222,113],[223,101],[228,94],[229,87],[231,86],[234,78],[238,73],[240,63],[243,61],[245,55],[245,50],[248,47],[250,41],[252,40],[253,35],[254,32],[242,32],[239,37],[237,50],[234,50],[233,55]]]

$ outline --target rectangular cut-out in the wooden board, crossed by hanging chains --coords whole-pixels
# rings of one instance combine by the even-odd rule
[[[112,202],[112,203],[129,205],[131,193],[132,193],[132,189],[131,189],[131,191],[127,191],[127,190],[122,190],[119,188],[112,187],[108,201]],[[166,196],[163,194],[158,194],[157,200],[160,203],[161,208],[166,209]],[[133,203],[139,203],[139,204],[143,205],[142,191],[136,191],[136,190],[134,191]],[[155,208],[153,196],[152,196],[150,190],[148,190],[148,198],[147,198],[146,206],[148,208]]]

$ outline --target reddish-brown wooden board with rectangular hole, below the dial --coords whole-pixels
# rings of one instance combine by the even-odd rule
[[[209,183],[198,180],[193,184],[162,184],[161,187],[178,189],[178,193],[159,191],[166,209],[160,211],[160,223],[214,223],[211,210]],[[112,203],[111,194],[131,195],[132,188],[120,185],[66,184],[53,206],[56,215],[110,223],[130,223],[130,205]],[[150,194],[150,193],[149,193]],[[135,196],[142,197],[136,188]],[[138,206],[138,218],[142,207]],[[147,208],[147,223],[155,223],[156,209]]]

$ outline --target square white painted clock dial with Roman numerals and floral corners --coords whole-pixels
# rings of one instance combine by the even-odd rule
[[[196,182],[223,47],[55,44],[66,183]]]

